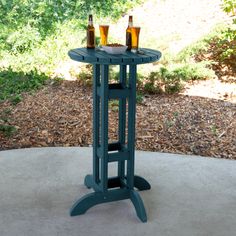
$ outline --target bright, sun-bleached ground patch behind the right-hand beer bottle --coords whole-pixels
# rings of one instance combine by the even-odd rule
[[[141,47],[159,50],[167,47],[177,53],[208,34],[217,23],[229,20],[220,4],[221,0],[149,0],[127,15],[133,15],[134,25],[141,27]],[[121,42],[125,42],[122,32],[127,27],[127,15],[110,27],[110,35]]]

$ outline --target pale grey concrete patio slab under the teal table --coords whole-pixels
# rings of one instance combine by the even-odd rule
[[[129,200],[70,217],[91,192],[83,186],[91,170],[90,148],[0,152],[0,236],[236,235],[236,161],[136,152],[136,173],[152,185],[140,193],[145,224]]]

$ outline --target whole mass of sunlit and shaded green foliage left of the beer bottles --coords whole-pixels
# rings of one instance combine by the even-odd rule
[[[89,13],[114,20],[141,1],[0,0],[0,100],[16,104],[53,76],[68,50],[82,45]]]

